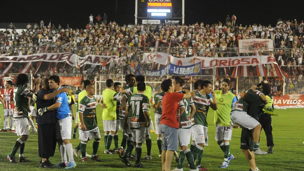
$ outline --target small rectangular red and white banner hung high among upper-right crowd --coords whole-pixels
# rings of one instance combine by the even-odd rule
[[[273,51],[273,40],[271,39],[243,39],[238,40],[239,53],[255,51]]]

